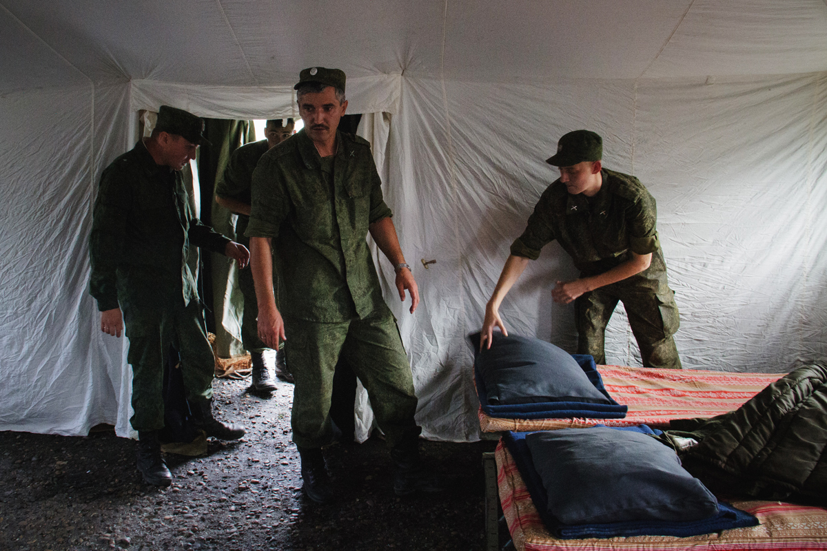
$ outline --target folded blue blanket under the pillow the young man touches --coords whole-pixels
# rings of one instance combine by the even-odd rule
[[[474,380],[476,381],[476,393],[480,399],[482,411],[492,417],[504,419],[562,419],[566,417],[589,417],[592,419],[623,419],[626,416],[628,406],[621,406],[614,401],[606,392],[603,386],[603,379],[597,371],[595,360],[586,354],[571,354],[571,357],[586,373],[589,381],[595,388],[609,399],[609,404],[595,404],[581,401],[543,401],[528,404],[509,404],[502,406],[490,406],[488,394],[485,392],[485,380],[479,370],[474,368]]]

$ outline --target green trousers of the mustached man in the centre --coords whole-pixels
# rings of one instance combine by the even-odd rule
[[[331,393],[340,356],[366,388],[391,448],[421,431],[414,421],[417,398],[408,357],[394,316],[382,306],[361,320],[285,321],[284,351],[295,379],[291,425],[293,441],[300,447],[332,443]]]

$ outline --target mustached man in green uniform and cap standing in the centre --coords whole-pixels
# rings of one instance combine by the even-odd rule
[[[366,388],[385,432],[394,492],[438,491],[420,463],[410,365],[366,242],[370,232],[394,265],[399,298],[410,293],[413,314],[417,284],[399,248],[370,144],[337,131],[347,108],[341,70],[304,69],[295,88],[304,129],[261,157],[247,235],[261,340],[270,347],[289,340],[291,424],[304,492],[313,501],[332,499],[322,447],[334,438],[330,404],[340,356]],[[281,310],[273,297],[271,254],[284,282]]]

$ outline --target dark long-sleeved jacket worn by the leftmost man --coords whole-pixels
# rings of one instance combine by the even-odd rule
[[[198,300],[198,249],[229,243],[195,216],[181,172],[155,164],[142,142],[101,176],[93,211],[89,292],[98,310]]]

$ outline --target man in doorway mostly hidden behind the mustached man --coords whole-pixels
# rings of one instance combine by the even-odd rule
[[[222,178],[215,188],[215,200],[222,207],[238,215],[236,221],[236,239],[241,245],[250,247],[250,238],[244,235],[250,224],[251,184],[253,170],[256,169],[261,155],[267,150],[280,144],[293,135],[293,119],[287,119],[283,124],[281,119],[271,119],[265,126],[265,140],[242,145],[232,152],[230,162],[224,169]],[[251,268],[242,268],[238,271],[238,283],[241,295],[244,297],[244,313],[241,316],[241,343],[250,352],[253,373],[252,387],[259,392],[272,392],[275,382],[270,378],[270,370],[275,370],[275,376],[293,382],[287,365],[284,362],[284,344],[275,354],[275,363],[270,349],[261,342],[258,336],[257,321],[258,306],[256,305],[256,287],[253,285]],[[278,282],[276,282],[278,287]],[[276,298],[278,298],[276,292]]]

